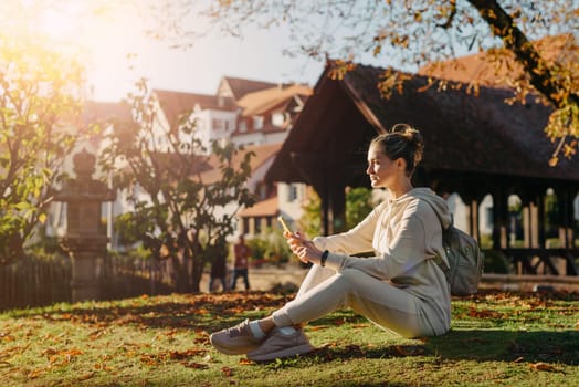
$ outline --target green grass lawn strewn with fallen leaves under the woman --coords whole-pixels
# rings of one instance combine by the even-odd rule
[[[306,327],[317,349],[257,364],[210,332],[293,294],[141,296],[0,314],[6,386],[579,386],[579,294],[453,300],[453,328],[403,339],[349,312]]]

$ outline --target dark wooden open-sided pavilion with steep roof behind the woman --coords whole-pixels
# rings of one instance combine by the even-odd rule
[[[393,124],[408,123],[425,140],[415,186],[429,186],[442,196],[459,194],[469,207],[466,231],[475,238],[481,237],[478,206],[492,195],[492,249],[520,262],[527,273],[535,273],[533,262],[539,261],[559,274],[550,258],[561,257],[567,274],[577,275],[573,199],[579,191],[579,157],[548,165],[554,145],[543,128],[550,107],[530,97],[524,105],[507,105],[504,101],[512,92],[505,88],[481,87],[478,95],[464,87],[440,92],[420,75],[408,77],[401,92],[385,98],[379,88],[383,69],[357,65],[341,80],[329,77],[329,71],[328,66],[319,77],[266,175],[271,181],[310,185],[322,198],[325,233],[344,227],[346,187],[369,187],[365,174],[369,140]],[[548,188],[559,205],[558,249],[548,249],[543,228]],[[522,200],[524,248],[515,249],[507,238],[510,195]]]

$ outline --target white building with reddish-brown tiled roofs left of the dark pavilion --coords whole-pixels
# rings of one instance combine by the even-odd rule
[[[255,153],[249,186],[260,201],[239,213],[240,233],[254,234],[277,227],[282,215],[293,223],[302,216],[304,185],[266,186],[264,176],[292,128],[312,90],[304,85],[277,85],[267,82],[223,77],[215,95],[154,91],[162,122],[173,127],[183,115],[196,122],[197,137],[209,151],[214,139],[233,142]],[[210,181],[211,172],[202,176]],[[218,211],[232,211],[225,206]]]

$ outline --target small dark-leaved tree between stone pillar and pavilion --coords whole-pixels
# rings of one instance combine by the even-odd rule
[[[139,236],[152,259],[171,260],[178,292],[199,292],[206,263],[235,231],[236,212],[255,202],[246,185],[254,154],[217,140],[206,149],[188,112],[164,125],[147,81],[136,86],[126,98],[133,119],[105,132],[99,163],[133,206],[125,231]]]

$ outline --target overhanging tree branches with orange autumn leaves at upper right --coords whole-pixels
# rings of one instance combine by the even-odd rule
[[[365,55],[383,59],[379,84],[383,95],[400,91],[404,77],[419,69],[473,52],[487,52],[491,67],[514,92],[507,103],[537,97],[552,106],[545,127],[554,142],[555,166],[572,157],[579,139],[579,3],[573,0],[262,0],[169,1],[154,9],[159,21],[157,38],[176,44],[194,44],[207,31],[191,17],[204,15],[210,29],[243,36],[248,27],[264,31],[286,28],[292,35],[290,55],[317,60],[331,57],[348,71]],[[203,6],[204,4],[204,6]],[[159,13],[162,14],[158,18]],[[565,54],[549,56],[535,41],[549,35],[564,38]],[[549,48],[547,48],[549,50]],[[515,71],[513,63],[522,71]],[[459,63],[460,65],[460,63]],[[393,71],[397,67],[403,70]],[[432,79],[433,86],[448,88],[448,80]],[[481,79],[469,81],[476,93]],[[545,160],[547,163],[547,160]]]

